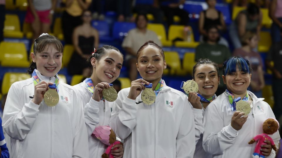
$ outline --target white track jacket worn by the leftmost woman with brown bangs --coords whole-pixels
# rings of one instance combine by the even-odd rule
[[[39,79],[55,81],[36,71]],[[32,78],[14,83],[8,92],[2,126],[11,137],[12,158],[88,157],[82,101],[70,85],[58,85],[59,102],[48,107],[31,102]]]

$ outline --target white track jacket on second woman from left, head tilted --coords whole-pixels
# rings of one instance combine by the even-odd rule
[[[92,136],[92,133],[96,126],[108,126],[114,102],[95,101],[92,98],[92,93],[87,89],[85,81],[73,87],[82,95],[85,123],[88,130],[89,158],[102,157],[108,146]]]

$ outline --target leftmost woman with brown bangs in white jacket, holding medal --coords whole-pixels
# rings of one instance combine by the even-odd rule
[[[11,157],[88,157],[82,101],[71,86],[59,82],[57,74],[61,42],[43,34],[33,50],[28,70],[32,78],[14,83],[5,104],[2,126],[11,137]],[[43,100],[50,86],[59,97],[53,107]]]

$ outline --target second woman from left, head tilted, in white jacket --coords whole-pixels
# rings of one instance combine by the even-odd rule
[[[101,157],[107,146],[92,135],[96,126],[108,126],[114,102],[103,99],[102,90],[110,87],[120,75],[123,55],[113,46],[104,45],[95,50],[89,57],[88,62],[93,66],[90,78],[82,83],[73,86],[82,96],[85,123],[88,130],[89,158]],[[111,150],[113,156],[121,158],[123,147],[120,144],[114,145]]]

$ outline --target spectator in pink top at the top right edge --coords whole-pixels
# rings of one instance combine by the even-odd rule
[[[282,1],[272,0],[269,6],[269,17],[273,23],[271,25],[271,39],[273,43],[281,41],[280,32],[282,30]]]

